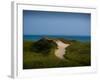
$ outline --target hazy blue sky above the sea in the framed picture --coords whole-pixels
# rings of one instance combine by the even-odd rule
[[[90,36],[88,13],[23,10],[24,35]]]

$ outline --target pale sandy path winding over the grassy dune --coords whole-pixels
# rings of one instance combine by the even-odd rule
[[[65,44],[60,40],[56,41],[56,43],[58,45],[58,49],[55,51],[55,55],[60,59],[64,59],[63,55],[65,54],[65,48],[68,47],[69,44]]]

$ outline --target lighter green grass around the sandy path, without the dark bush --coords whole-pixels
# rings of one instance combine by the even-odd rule
[[[54,55],[52,48],[48,55],[32,51],[33,41],[23,43],[23,69],[77,67],[90,65],[89,43],[73,42],[66,48],[65,59],[61,60]],[[75,47],[76,46],[76,47]],[[80,51],[79,51],[80,50]],[[84,51],[86,53],[84,53]]]

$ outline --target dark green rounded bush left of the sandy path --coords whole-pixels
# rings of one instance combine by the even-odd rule
[[[53,40],[42,38],[31,46],[31,50],[37,53],[48,54],[51,49],[57,48],[57,44]]]

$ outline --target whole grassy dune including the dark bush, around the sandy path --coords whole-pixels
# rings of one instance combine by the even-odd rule
[[[57,39],[42,38],[38,41],[23,42],[23,69],[56,68],[90,66],[91,52],[89,42],[59,39],[64,43],[70,43],[66,48],[65,59],[55,56]]]

